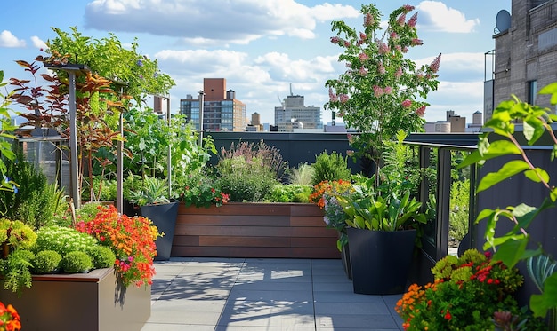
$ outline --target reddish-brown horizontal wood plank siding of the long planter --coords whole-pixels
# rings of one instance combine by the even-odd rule
[[[340,258],[323,211],[305,203],[178,209],[172,256]]]

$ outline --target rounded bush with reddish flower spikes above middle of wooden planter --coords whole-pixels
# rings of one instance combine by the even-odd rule
[[[262,141],[222,149],[216,165],[222,192],[230,195],[230,201],[264,201],[286,167],[278,149]]]

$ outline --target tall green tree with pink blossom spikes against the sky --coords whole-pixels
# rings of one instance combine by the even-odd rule
[[[351,136],[358,155],[382,166],[383,142],[407,133],[424,130],[424,100],[437,90],[440,55],[430,65],[417,67],[405,55],[420,46],[416,32],[417,12],[407,20],[411,5],[404,5],[389,16],[387,28],[380,27],[381,12],[374,4],[362,5],[364,30],[357,32],[341,21],[332,22],[336,35],[331,38],[343,49],[339,61],[347,70],[325,84],[329,89],[326,109],[335,111],[347,126],[359,131]]]

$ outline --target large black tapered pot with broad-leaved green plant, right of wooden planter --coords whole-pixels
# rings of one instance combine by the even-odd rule
[[[338,196],[346,215],[353,287],[360,294],[397,294],[406,288],[422,203],[407,183],[375,187],[375,176],[356,177],[355,193]]]

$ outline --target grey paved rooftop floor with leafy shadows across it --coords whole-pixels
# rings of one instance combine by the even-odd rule
[[[397,296],[352,291],[341,260],[171,258],[156,263],[158,330],[402,330]]]

